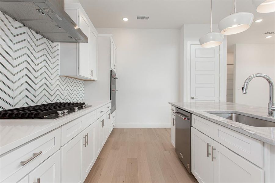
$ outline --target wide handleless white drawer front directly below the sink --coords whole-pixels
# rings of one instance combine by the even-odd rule
[[[251,161],[259,167],[263,167],[263,142],[243,135],[237,131],[214,125],[214,140],[236,152],[245,159]]]

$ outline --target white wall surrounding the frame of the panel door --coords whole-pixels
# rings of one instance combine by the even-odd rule
[[[180,62],[183,62],[183,65],[181,69],[183,70],[180,72],[182,75],[181,78],[183,82],[180,84],[180,88],[183,89],[183,92],[180,93],[181,98],[183,98],[184,102],[187,102],[187,41],[199,41],[199,38],[203,36],[204,34],[207,34],[210,32],[210,24],[186,24],[183,25],[183,27],[180,29],[180,37],[183,38],[183,41],[180,42],[180,48],[183,50],[180,50],[183,52],[183,57],[181,57]],[[219,28],[217,24],[212,25],[212,31],[219,32]],[[221,101],[226,101],[226,36],[223,40],[223,43],[221,45],[221,64],[223,65],[222,70],[220,71],[223,75],[221,77],[221,80],[223,82],[220,82],[220,88],[223,88],[225,92],[221,92],[220,99]]]

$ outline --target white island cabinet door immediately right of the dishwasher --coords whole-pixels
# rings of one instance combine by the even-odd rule
[[[211,146],[213,145],[213,139],[192,127],[191,143],[191,170],[193,175],[200,183],[213,182],[214,163],[211,159]]]

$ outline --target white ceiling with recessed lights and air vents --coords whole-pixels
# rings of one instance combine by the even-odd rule
[[[183,24],[205,24],[210,22],[210,0],[79,0],[95,27],[180,29]],[[229,52],[233,44],[275,44],[275,35],[266,39],[262,33],[275,32],[275,13],[258,13],[251,0],[237,0],[237,12],[251,12],[253,23],[240,34],[227,37]],[[233,0],[213,0],[213,24],[219,23],[233,12]],[[136,20],[137,15],[149,15],[149,20]],[[122,18],[127,17],[127,22]]]

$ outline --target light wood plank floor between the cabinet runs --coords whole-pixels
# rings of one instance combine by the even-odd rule
[[[170,129],[114,128],[85,183],[197,182],[175,153]]]

